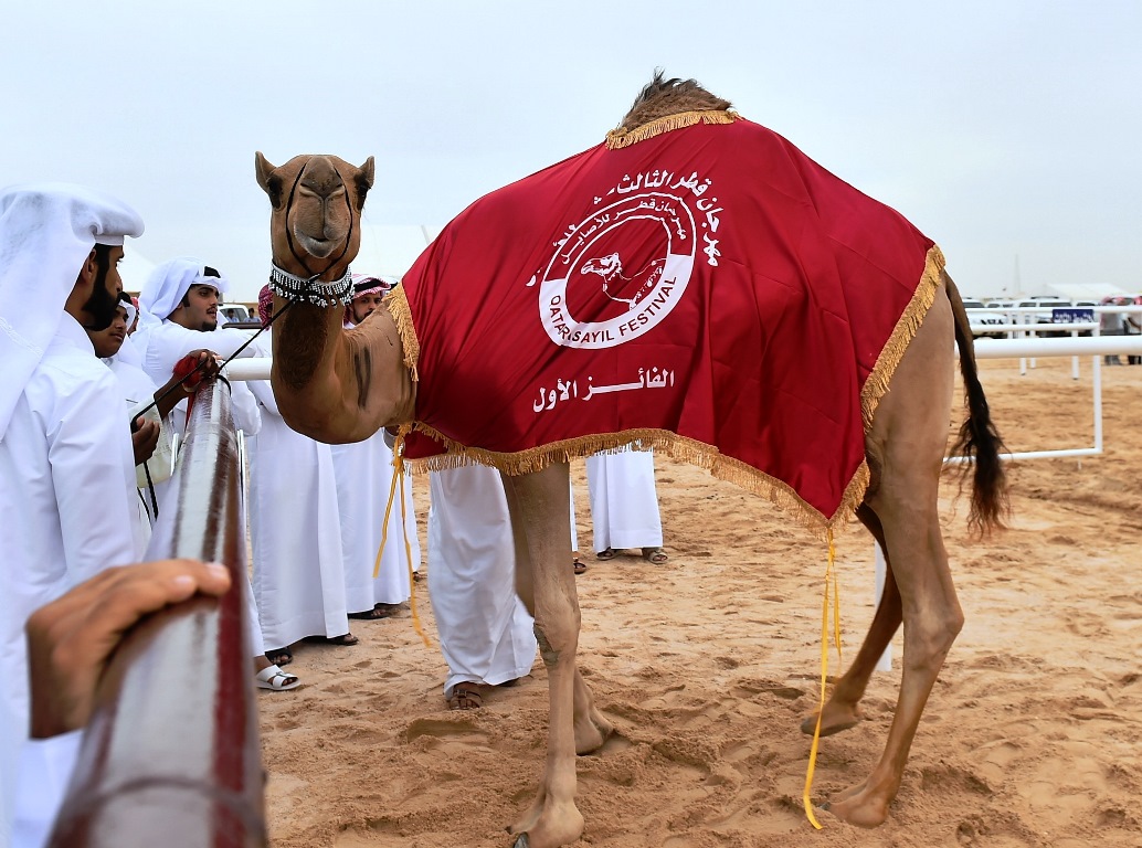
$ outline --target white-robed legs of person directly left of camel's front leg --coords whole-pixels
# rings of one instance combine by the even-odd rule
[[[428,475],[428,592],[448,663],[453,710],[482,705],[483,686],[531,672],[534,620],[515,592],[515,547],[504,482],[494,468]]]

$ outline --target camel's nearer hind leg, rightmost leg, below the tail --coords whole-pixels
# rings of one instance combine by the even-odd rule
[[[964,622],[940,532],[938,502],[955,365],[951,306],[942,294],[941,288],[896,368],[892,389],[880,401],[866,438],[874,483],[864,502],[879,520],[904,627],[900,695],[884,753],[863,783],[829,806],[836,816],[866,827],[887,817],[920,714]],[[842,690],[843,698],[863,690],[872,649],[883,649],[886,633],[891,638],[890,613],[875,637],[870,633],[855,670],[842,678],[847,687]]]

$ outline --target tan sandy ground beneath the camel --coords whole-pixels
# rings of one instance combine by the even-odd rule
[[[1012,450],[1093,444],[1088,360],[1078,381],[1065,360],[1026,375],[1007,361],[981,371]],[[801,809],[810,740],[797,726],[817,703],[823,546],[761,499],[659,457],[669,563],[588,551],[578,579],[581,668],[619,732],[579,759],[577,845],[1142,845],[1142,368],[1102,377],[1104,454],[1014,465],[1008,531],[971,539],[946,482],[967,621],[875,831],[825,815],[819,833]],[[572,475],[588,548],[581,461]],[[423,518],[424,480],[416,494]],[[870,538],[854,525],[837,556],[853,652],[872,614]],[[435,640],[424,585],[417,608]],[[449,712],[443,660],[407,613],[354,631],[351,648],[299,647],[291,670],[304,687],[260,693],[274,848],[507,846],[504,827],[544,762],[542,664],[482,711]],[[879,757],[900,648],[898,633],[866,720],[822,742],[815,798],[863,780]]]

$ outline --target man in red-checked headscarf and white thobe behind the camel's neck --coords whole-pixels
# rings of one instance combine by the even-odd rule
[[[345,309],[345,329],[356,326],[378,309],[394,284],[393,280],[354,274],[353,301]],[[394,474],[393,451],[385,442],[384,431],[378,431],[363,442],[332,445],[332,455],[337,503],[341,517],[345,599],[349,617],[388,617],[411,595],[409,572],[420,570],[420,541],[412,504],[412,482],[408,476],[404,477],[403,523],[402,492],[400,488],[394,492],[393,509],[385,531],[385,547],[381,550],[381,530],[386,526],[385,508],[389,492],[393,491]],[[405,539],[409,541],[411,559],[404,548]]]

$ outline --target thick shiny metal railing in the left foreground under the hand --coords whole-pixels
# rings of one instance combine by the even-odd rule
[[[224,563],[232,588],[136,627],[113,656],[51,848],[266,845],[264,773],[247,636],[238,439],[230,390],[199,388],[151,558]]]

